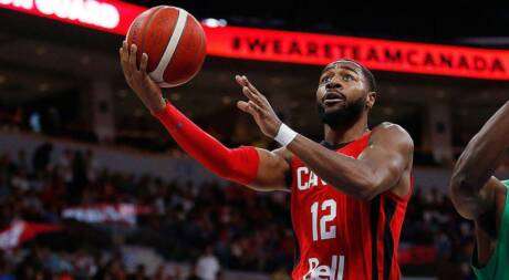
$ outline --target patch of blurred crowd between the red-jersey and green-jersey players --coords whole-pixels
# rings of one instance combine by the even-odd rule
[[[404,274],[428,271],[438,279],[474,279],[470,269],[474,224],[456,212],[444,188],[423,190],[416,186],[403,224],[401,247],[432,246],[436,258],[427,266],[408,265],[402,270]]]

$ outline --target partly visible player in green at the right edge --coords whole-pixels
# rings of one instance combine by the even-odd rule
[[[509,102],[468,143],[453,172],[450,197],[456,210],[474,220],[477,279],[509,279],[509,180],[492,175],[509,149]]]

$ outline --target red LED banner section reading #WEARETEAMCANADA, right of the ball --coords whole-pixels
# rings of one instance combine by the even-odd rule
[[[211,55],[325,65],[349,58],[393,72],[509,80],[509,51],[247,28],[207,29]]]

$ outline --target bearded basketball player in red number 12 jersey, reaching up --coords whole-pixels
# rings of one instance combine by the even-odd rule
[[[120,50],[125,77],[138,97],[190,156],[218,176],[256,190],[291,191],[298,240],[293,279],[399,279],[397,247],[412,193],[413,142],[395,124],[370,131],[376,86],[361,64],[340,60],[320,75],[316,106],[324,141],[315,143],[281,123],[269,101],[236,76],[261,132],[281,144],[266,151],[227,148],[162,97],[147,76],[147,55]]]

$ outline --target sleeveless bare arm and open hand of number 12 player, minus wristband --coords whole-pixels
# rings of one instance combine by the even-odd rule
[[[270,103],[246,76],[237,76],[237,82],[249,98],[240,101],[238,107],[253,116],[263,134],[274,138],[283,124]],[[414,144],[401,126],[383,124],[372,132],[367,148],[357,159],[330,151],[302,135],[293,137],[287,149],[332,186],[368,200],[399,182],[412,163]]]

